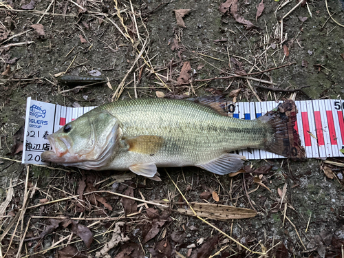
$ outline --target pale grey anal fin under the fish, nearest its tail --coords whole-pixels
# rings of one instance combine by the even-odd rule
[[[196,166],[217,175],[226,175],[228,173],[237,172],[241,168],[242,164],[244,164],[244,160],[246,160],[246,158],[242,155],[224,153],[219,156],[219,158],[211,160],[205,164],[197,164]]]

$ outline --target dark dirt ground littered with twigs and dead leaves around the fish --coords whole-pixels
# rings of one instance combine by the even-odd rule
[[[161,182],[17,162],[29,96],[69,107],[235,89],[238,101],[343,96],[343,1],[264,1],[257,21],[260,1],[236,2],[0,0],[0,257],[344,257],[343,169],[323,160],[250,161],[234,177],[160,169]],[[109,85],[56,78],[94,70]],[[178,213],[186,200],[257,215],[202,221]]]

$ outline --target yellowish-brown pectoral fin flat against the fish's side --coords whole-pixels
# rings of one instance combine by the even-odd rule
[[[138,136],[125,140],[129,145],[129,151],[153,155],[162,147],[164,138],[161,136]]]

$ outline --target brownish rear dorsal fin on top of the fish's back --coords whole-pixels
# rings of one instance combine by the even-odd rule
[[[189,98],[188,100],[211,107],[222,116],[233,116],[235,110],[235,103],[222,96]]]

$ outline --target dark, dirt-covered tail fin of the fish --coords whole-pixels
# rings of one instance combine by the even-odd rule
[[[299,133],[294,129],[297,107],[293,100],[286,100],[265,116],[257,118],[268,123],[271,134],[264,142],[266,151],[293,159],[305,158]]]

